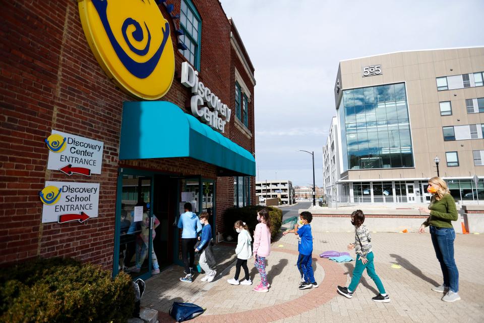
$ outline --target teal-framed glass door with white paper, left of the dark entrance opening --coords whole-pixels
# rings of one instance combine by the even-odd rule
[[[133,278],[148,278],[152,269],[152,196],[151,176],[120,174],[116,213],[113,275],[120,271]],[[119,196],[120,195],[120,196]],[[156,256],[153,257],[156,259]]]

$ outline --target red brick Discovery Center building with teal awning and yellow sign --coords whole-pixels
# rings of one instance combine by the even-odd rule
[[[0,265],[75,257],[116,275],[156,217],[131,272],[147,278],[152,250],[181,263],[186,202],[214,238],[255,204],[254,66],[218,0],[2,10]]]

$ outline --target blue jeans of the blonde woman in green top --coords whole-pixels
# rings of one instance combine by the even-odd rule
[[[439,228],[430,226],[430,236],[435,254],[442,268],[444,286],[457,293],[459,291],[459,271],[454,259],[454,228]]]

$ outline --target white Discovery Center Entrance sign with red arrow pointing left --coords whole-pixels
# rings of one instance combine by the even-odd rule
[[[48,170],[69,176],[101,174],[103,142],[52,130],[45,143],[50,150]]]

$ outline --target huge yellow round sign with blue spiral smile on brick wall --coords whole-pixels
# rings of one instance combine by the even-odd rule
[[[79,14],[99,65],[130,93],[155,100],[175,69],[170,25],[155,0],[80,0]]]

